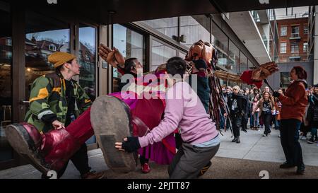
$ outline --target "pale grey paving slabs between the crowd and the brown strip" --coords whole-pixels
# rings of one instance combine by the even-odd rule
[[[264,129],[247,130],[247,133],[241,131],[240,144],[231,142],[230,131],[223,132],[224,136],[221,136],[222,142],[216,156],[283,163],[285,156],[281,147],[281,139],[278,138],[279,131],[272,129],[271,135],[267,137],[262,136],[263,132]],[[317,144],[307,144],[307,141],[304,140],[300,140],[300,144],[305,165],[318,166]]]

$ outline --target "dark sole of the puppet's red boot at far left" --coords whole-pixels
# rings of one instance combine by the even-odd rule
[[[11,147],[37,170],[46,174],[49,167],[45,167],[44,160],[33,150],[33,140],[21,124],[10,124],[6,127],[6,139]]]

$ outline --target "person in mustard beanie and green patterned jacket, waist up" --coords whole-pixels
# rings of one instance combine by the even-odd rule
[[[85,93],[83,88],[78,85],[76,81],[73,81],[71,77],[74,75],[63,74],[59,71],[59,68],[63,64],[72,62],[76,57],[73,54],[64,52],[56,52],[49,56],[49,62],[54,64],[56,72],[46,74],[35,79],[30,91],[30,107],[25,115],[25,122],[33,124],[39,131],[47,132],[51,129],[57,129],[57,127],[67,126],[67,119],[70,111],[70,95],[73,101],[71,105],[71,112],[73,119],[76,119],[82,112],[88,109],[92,102]],[[75,75],[79,74],[79,64],[69,65],[68,71],[75,71]],[[74,68],[77,67],[77,68]],[[73,68],[73,69],[71,69]],[[78,72],[76,72],[78,71]],[[71,89],[70,89],[71,88]],[[67,90],[67,92],[66,92]],[[75,103],[74,103],[75,101]],[[61,128],[59,128],[61,129]]]

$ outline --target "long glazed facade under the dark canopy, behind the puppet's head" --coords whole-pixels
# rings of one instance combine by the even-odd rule
[[[258,18],[257,12],[254,12],[254,16],[256,19]],[[170,21],[170,23],[168,21]],[[158,31],[163,35],[171,37],[173,40],[177,40],[177,42],[180,42],[180,44],[188,48],[191,47],[194,42],[199,40],[211,42],[218,52],[217,65],[223,67],[223,69],[226,69],[227,71],[240,74],[249,67],[247,66],[247,57],[242,54],[237,45],[229,39],[228,35],[226,35],[210,17],[205,15],[181,16],[179,18],[175,17],[141,21],[141,23],[148,25],[153,30]],[[175,36],[179,36],[179,38],[176,39]],[[266,41],[268,40],[266,39]],[[266,42],[266,45],[267,44],[268,43]],[[276,47],[273,47],[273,49],[276,49]],[[173,47],[155,40],[151,40],[150,50],[151,70],[154,70],[158,65],[165,63],[169,57],[175,56],[178,52],[177,48],[174,49]],[[277,50],[274,50],[273,52],[277,52]],[[240,55],[242,55],[242,59],[240,59]],[[179,53],[179,56],[184,57],[185,55]],[[250,64],[252,65],[252,62]],[[253,67],[251,66],[250,68]]]

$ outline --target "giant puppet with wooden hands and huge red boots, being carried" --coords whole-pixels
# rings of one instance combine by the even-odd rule
[[[124,57],[117,49],[101,45],[100,55],[120,71]],[[217,92],[221,90],[219,78],[260,87],[268,76],[278,71],[273,62],[262,64],[255,70],[245,71],[242,75],[217,70],[216,49],[201,40],[192,45],[185,58],[188,62],[187,73],[192,73],[192,61],[196,59],[204,59],[208,64],[207,74],[211,88],[209,113],[216,123],[220,122],[220,108],[228,112],[223,95]],[[134,78],[126,90],[97,98],[93,106],[66,129],[52,129],[46,134],[40,134],[33,125],[11,124],[6,127],[7,139],[20,156],[40,172],[46,173],[49,170],[60,170],[81,144],[95,133],[107,166],[119,172],[133,171],[136,169],[136,154],[117,151],[114,142],[122,141],[129,135],[143,136],[149,129],[156,127],[163,117],[167,86],[160,75],[165,74],[165,65],[148,74],[153,74],[157,81],[144,83],[138,80],[143,79],[143,76]],[[155,97],[139,98],[145,93]],[[174,143],[172,134],[159,144],[157,148],[163,152],[163,159],[169,160],[175,154]]]

